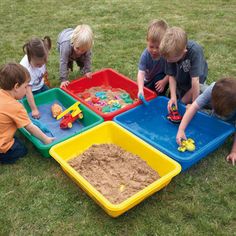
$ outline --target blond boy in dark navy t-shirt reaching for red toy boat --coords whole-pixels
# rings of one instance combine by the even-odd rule
[[[167,29],[160,53],[167,60],[166,73],[169,75],[170,101],[177,107],[177,98],[191,104],[200,94],[200,84],[207,78],[208,66],[202,47],[187,39],[187,34],[179,27]]]

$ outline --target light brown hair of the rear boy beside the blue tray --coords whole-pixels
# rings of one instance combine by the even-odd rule
[[[160,44],[167,28],[165,20],[152,20],[148,25],[147,41]]]

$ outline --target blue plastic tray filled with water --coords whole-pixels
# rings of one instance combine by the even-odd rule
[[[233,125],[197,112],[186,129],[186,136],[195,141],[196,149],[193,152],[180,152],[176,143],[179,124],[166,118],[168,100],[166,97],[157,97],[148,102],[149,106],[140,105],[116,116],[114,121],[178,161],[182,170],[214,151],[235,132]],[[178,112],[183,115],[185,106],[178,104]]]

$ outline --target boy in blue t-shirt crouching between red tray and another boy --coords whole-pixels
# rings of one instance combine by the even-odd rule
[[[160,57],[159,45],[168,28],[164,20],[153,20],[148,26],[147,48],[143,51],[137,75],[138,97],[143,96],[143,87],[165,95],[168,89],[168,76],[165,74],[166,61]]]

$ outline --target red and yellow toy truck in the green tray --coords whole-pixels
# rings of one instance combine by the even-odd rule
[[[82,111],[79,108],[79,104],[80,102],[74,103],[72,106],[57,116],[57,120],[62,118],[60,122],[61,129],[72,128],[73,122],[84,117]]]

